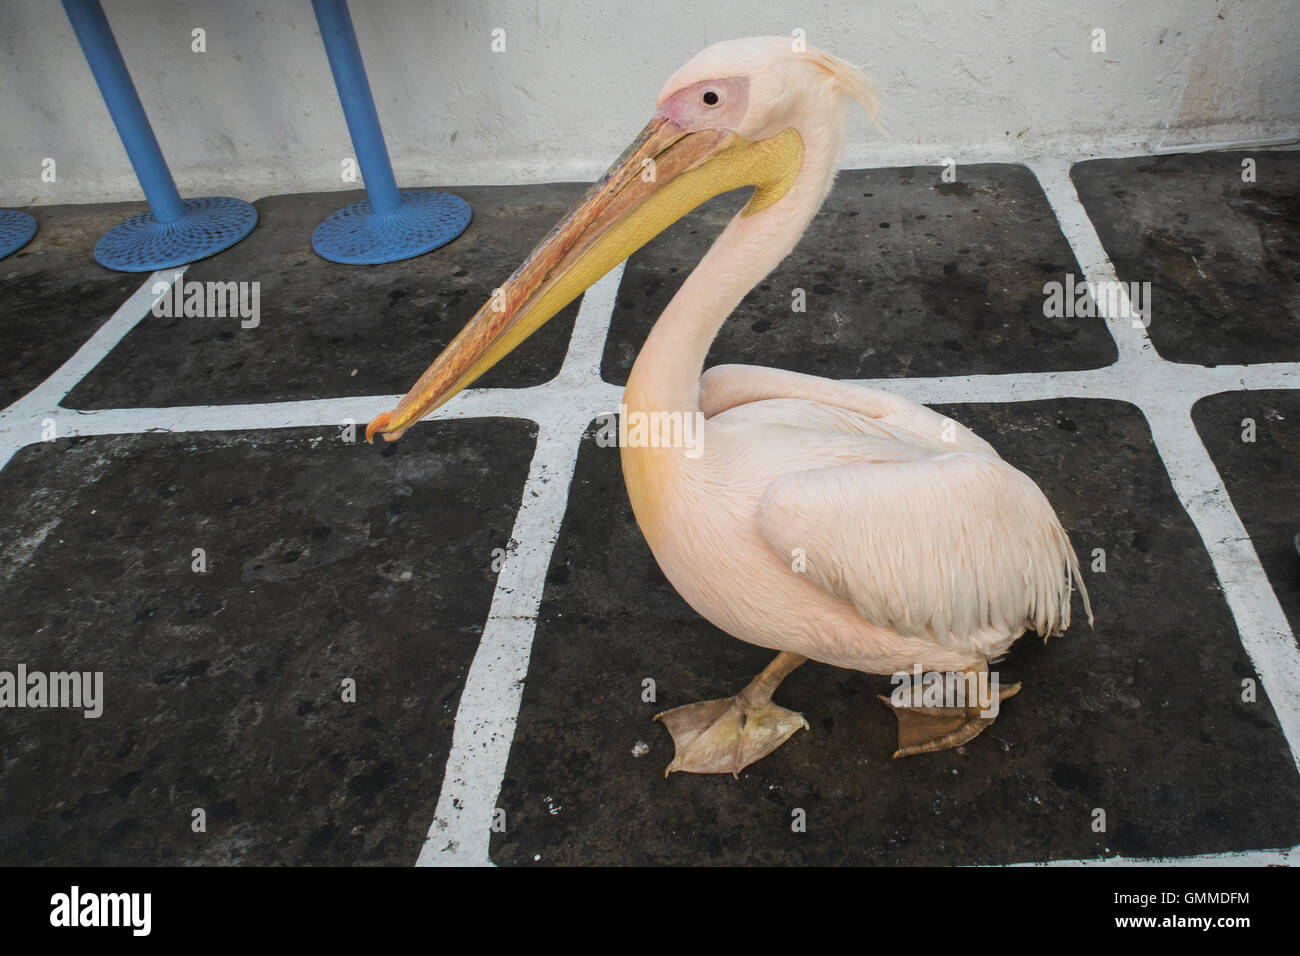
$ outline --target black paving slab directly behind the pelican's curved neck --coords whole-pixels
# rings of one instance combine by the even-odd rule
[[[696,209],[628,260],[602,373],[623,385],[650,328],[744,206]],[[1079,267],[1019,165],[840,173],[790,256],[723,326],[707,365],[779,365],[835,378],[1096,368],[1115,359],[1097,319],[1046,319],[1043,284]],[[792,290],[806,295],[792,312]]]

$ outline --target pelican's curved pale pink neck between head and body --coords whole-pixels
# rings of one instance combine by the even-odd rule
[[[750,289],[786,256],[826,198],[838,126],[803,139],[803,165],[784,196],[762,212],[738,213],[659,316],[628,376],[629,410],[699,411],[699,376],[718,330]]]

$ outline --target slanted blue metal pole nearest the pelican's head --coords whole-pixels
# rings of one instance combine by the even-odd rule
[[[356,46],[347,0],[312,0],[312,7],[321,29],[329,68],[334,74],[334,86],[338,87],[338,99],[343,104],[352,148],[361,165],[370,208],[381,216],[395,212],[402,200],[389,163],[384,130],[380,129],[380,114],[374,111],[374,98],[370,96],[365,65],[361,62],[361,49]]]

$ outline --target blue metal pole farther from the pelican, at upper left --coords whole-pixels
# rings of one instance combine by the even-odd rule
[[[104,103],[113,117],[113,125],[117,126],[117,134],[122,138],[122,146],[126,147],[126,155],[135,168],[144,196],[150,200],[153,217],[159,222],[181,219],[185,213],[181,194],[176,189],[172,173],[168,172],[153,127],[144,114],[144,107],[140,105],[140,98],[135,94],[131,74],[126,72],[117,40],[113,39],[113,30],[104,17],[104,8],[99,0],[64,0],[64,9],[86,53],[86,62],[95,74],[95,82],[104,95]]]

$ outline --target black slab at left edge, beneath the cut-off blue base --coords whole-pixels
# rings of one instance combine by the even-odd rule
[[[0,405],[36,388],[112,317],[144,276],[105,269],[95,243],[144,203],[35,206],[35,238],[0,259]]]

